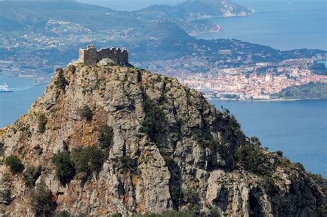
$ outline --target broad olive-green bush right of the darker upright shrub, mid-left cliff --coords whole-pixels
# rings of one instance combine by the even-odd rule
[[[105,160],[101,149],[95,146],[73,149],[71,157],[76,173],[84,181],[87,180],[92,172],[99,172]]]

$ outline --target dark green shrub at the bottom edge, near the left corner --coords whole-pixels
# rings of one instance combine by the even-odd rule
[[[54,201],[52,193],[44,185],[37,185],[30,194],[30,203],[36,216],[51,216],[56,209],[57,204]]]

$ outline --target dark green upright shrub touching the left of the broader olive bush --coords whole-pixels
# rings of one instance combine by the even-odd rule
[[[67,152],[59,152],[52,156],[52,162],[56,167],[56,176],[59,178],[63,185],[72,180],[75,176],[75,168],[70,160],[70,154]]]

